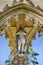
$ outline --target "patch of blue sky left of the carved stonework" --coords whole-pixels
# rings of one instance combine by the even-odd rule
[[[0,36],[0,65],[5,65],[5,60],[8,59],[10,54],[10,47],[8,47],[8,40],[4,35]]]

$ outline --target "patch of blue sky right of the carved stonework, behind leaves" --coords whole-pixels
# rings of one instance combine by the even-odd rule
[[[38,33],[36,34],[36,40],[32,40],[32,48],[39,53],[37,57],[39,65],[43,65],[43,36],[39,37]]]

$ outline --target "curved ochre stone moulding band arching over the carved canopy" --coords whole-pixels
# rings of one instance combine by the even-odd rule
[[[14,12],[14,11],[17,11],[18,9],[28,10],[28,11],[30,11],[30,12],[33,12],[33,13],[35,13],[35,14],[37,14],[37,15],[43,17],[43,14],[40,13],[37,9],[32,8],[31,6],[22,3],[22,4],[18,4],[18,5],[16,5],[16,6],[13,6],[13,7],[7,9],[6,11],[2,12],[2,14],[0,15],[0,21],[1,21],[1,19],[4,18],[6,15],[8,15],[8,14]]]

